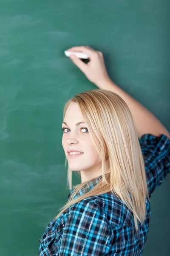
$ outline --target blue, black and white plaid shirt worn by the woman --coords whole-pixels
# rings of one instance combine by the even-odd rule
[[[143,134],[139,139],[144,157],[149,196],[170,172],[170,139]],[[88,192],[102,175],[89,181],[75,197]],[[71,189],[68,198],[74,189]],[[136,233],[132,212],[111,192],[71,205],[52,220],[40,238],[39,256],[140,256],[147,239],[150,203],[145,201],[144,224]]]

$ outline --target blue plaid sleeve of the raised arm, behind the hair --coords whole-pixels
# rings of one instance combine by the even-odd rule
[[[161,134],[143,134],[139,143],[144,157],[149,196],[170,172],[170,139]]]

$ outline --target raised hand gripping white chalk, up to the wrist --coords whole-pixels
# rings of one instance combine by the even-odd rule
[[[87,64],[85,64],[81,59],[79,59],[76,55],[73,54],[73,58],[71,58],[70,56],[70,59],[74,62],[74,64],[77,67],[79,67],[80,70],[82,70],[85,76],[92,83],[98,86],[98,84],[101,84],[102,81],[105,82],[110,80],[105,68],[102,52],[96,51],[88,46],[71,47],[68,49],[68,51],[88,53],[90,61]]]

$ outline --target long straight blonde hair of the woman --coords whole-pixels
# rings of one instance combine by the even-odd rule
[[[137,219],[143,224],[145,200],[146,196],[149,200],[149,195],[144,159],[130,109],[116,93],[94,89],[78,93],[69,99],[64,107],[63,119],[71,102],[78,104],[91,140],[102,160],[102,179],[93,189],[77,198],[74,196],[89,181],[74,186],[74,192],[68,202],[59,209],[55,219],[82,199],[112,192],[133,212],[135,228],[138,230]],[[65,167],[66,163],[67,157]],[[72,171],[69,167],[67,186],[72,189]]]

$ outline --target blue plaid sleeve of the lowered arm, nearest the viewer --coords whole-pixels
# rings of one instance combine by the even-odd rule
[[[96,199],[82,200],[69,209],[59,242],[58,256],[108,256],[111,230]]]

